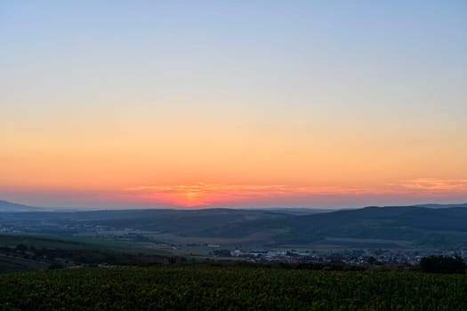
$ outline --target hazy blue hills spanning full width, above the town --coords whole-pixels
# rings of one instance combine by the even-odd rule
[[[366,207],[321,213],[268,210],[2,212],[4,232],[86,235],[225,247],[465,248],[467,208]]]

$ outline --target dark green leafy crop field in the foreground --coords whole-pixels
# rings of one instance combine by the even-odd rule
[[[465,310],[467,275],[253,267],[82,267],[0,275],[28,310]]]

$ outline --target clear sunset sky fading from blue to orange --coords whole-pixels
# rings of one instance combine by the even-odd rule
[[[0,2],[0,199],[467,202],[467,3]]]

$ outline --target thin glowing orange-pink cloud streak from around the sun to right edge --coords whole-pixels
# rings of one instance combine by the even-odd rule
[[[213,206],[236,203],[315,203],[356,198],[420,198],[467,196],[467,179],[410,179],[382,187],[312,187],[288,185],[139,186],[123,191],[126,199],[181,206]]]

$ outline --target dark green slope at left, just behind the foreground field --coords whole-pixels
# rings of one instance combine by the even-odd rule
[[[18,251],[17,245],[26,246]],[[56,235],[0,235],[0,273],[44,270],[51,265],[75,266],[103,262],[165,261],[172,250],[147,243]]]

